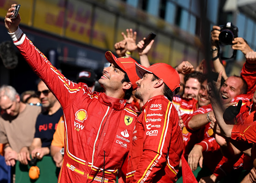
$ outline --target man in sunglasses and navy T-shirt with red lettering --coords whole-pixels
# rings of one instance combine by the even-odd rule
[[[24,147],[18,153],[18,160],[25,165],[28,164],[28,160],[31,160],[30,154],[32,158],[38,159],[42,159],[43,156],[50,154],[53,134],[60,117],[63,115],[60,103],[42,80],[38,83],[37,88],[37,95],[42,104],[42,113],[38,116],[35,123],[35,134],[32,144],[29,148]]]

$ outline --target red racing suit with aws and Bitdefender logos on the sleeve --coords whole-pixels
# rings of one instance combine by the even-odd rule
[[[134,127],[126,182],[176,182],[182,151],[176,109],[163,95],[151,98]]]

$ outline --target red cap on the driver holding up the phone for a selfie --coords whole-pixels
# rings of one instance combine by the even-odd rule
[[[114,54],[112,54],[111,51],[107,51],[105,53],[106,59],[109,61],[109,63],[116,63],[128,76],[132,83],[132,89],[137,89],[136,81],[138,81],[140,78],[138,77],[136,73],[136,64],[137,63],[134,59],[131,57],[120,57],[116,58]]]

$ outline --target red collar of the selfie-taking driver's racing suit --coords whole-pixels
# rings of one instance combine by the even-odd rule
[[[101,93],[99,95],[99,101],[100,103],[110,106],[111,108],[115,110],[123,110],[126,105],[126,100],[125,99],[120,99],[120,98],[114,98],[107,96],[105,93]]]

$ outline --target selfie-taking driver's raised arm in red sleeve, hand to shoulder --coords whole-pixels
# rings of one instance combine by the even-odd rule
[[[65,108],[73,101],[76,92],[80,91],[82,84],[74,83],[63,76],[60,71],[55,68],[45,55],[34,46],[28,39],[26,34],[18,28],[20,15],[17,18],[10,19],[13,14],[11,11],[16,4],[12,4],[12,8],[8,10],[5,18],[5,27],[26,62],[32,68],[35,74],[42,79],[46,86],[51,90],[55,97]],[[86,90],[86,89],[84,89]],[[86,91],[85,91],[86,92]]]

